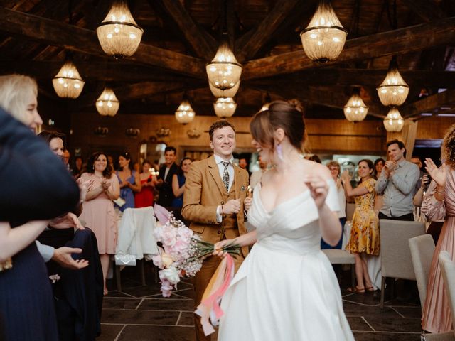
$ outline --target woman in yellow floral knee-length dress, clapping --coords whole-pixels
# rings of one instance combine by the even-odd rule
[[[368,275],[367,262],[363,257],[363,254],[378,256],[380,246],[378,217],[374,210],[376,180],[372,178],[373,170],[372,161],[367,159],[359,161],[360,184],[356,188],[350,185],[348,172],[345,171],[341,175],[346,196],[355,199],[353,226],[350,229],[350,239],[346,249],[355,256],[355,276],[357,277],[355,291],[359,293],[375,290]]]

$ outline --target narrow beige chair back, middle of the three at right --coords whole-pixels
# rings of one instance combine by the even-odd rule
[[[422,236],[410,238],[409,243],[417,288],[419,288],[420,305],[423,311],[427,297],[429,269],[432,265],[435,249],[434,240],[430,234],[422,234]]]

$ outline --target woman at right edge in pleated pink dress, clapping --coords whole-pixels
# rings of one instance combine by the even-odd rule
[[[440,168],[437,168],[432,159],[425,160],[425,169],[433,180],[424,197],[422,213],[430,220],[444,220],[433,254],[427,298],[422,312],[422,328],[429,332],[448,332],[452,329],[449,297],[444,289],[438,256],[439,252],[445,250],[452,259],[455,258],[455,124],[444,136],[441,160],[445,162]]]

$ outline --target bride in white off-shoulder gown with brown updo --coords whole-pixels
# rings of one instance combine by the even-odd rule
[[[250,130],[262,161],[274,167],[253,193],[248,221],[256,230],[215,244],[254,244],[223,296],[218,340],[354,340],[320,247],[321,234],[331,245],[341,238],[336,185],[326,166],[301,156],[303,110],[273,102]]]

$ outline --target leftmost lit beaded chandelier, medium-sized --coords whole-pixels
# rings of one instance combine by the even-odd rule
[[[77,98],[84,88],[85,81],[80,77],[75,65],[67,60],[53,77],[52,84],[58,97]]]

